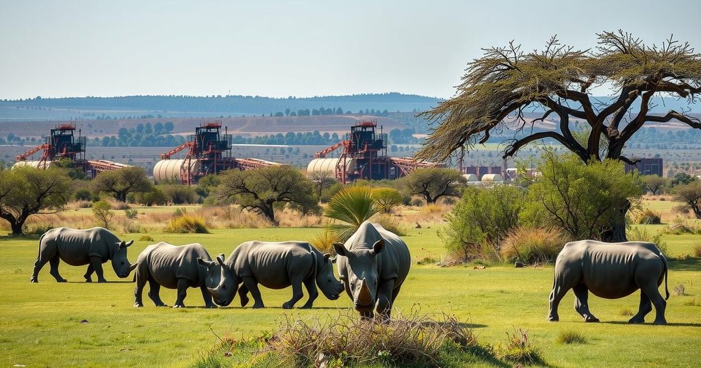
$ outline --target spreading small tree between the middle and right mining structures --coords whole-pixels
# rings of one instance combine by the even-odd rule
[[[227,170],[221,175],[216,193],[219,200],[234,200],[273,224],[278,224],[274,211],[276,205],[292,203],[309,209],[318,203],[313,183],[290,166]]]

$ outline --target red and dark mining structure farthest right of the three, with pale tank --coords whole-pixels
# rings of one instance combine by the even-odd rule
[[[387,156],[387,134],[376,132],[377,121],[359,121],[351,126],[346,139],[317,152],[307,165],[307,177],[318,172],[332,172],[341,183],[358,179],[397,179],[418,168],[444,167],[440,163],[416,161],[411,157]],[[339,156],[332,156],[339,151]]]

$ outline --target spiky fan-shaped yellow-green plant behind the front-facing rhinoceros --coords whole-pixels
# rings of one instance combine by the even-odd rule
[[[330,222],[327,229],[339,241],[346,241],[363,222],[377,213],[372,188],[368,186],[348,186],[329,200],[324,216],[337,222]]]

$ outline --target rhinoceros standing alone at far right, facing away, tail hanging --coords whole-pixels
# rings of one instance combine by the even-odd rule
[[[658,291],[662,278],[665,278],[665,299]],[[574,307],[585,322],[599,322],[589,311],[587,292],[601,298],[618,299],[640,289],[638,314],[628,322],[643,323],[645,315],[653,310],[653,304],[657,311],[653,323],[667,323],[667,259],[653,243],[601,243],[594,240],[567,243],[555,261],[548,320],[559,320],[557,306],[569,289],[574,290]]]

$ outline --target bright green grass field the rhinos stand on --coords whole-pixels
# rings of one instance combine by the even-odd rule
[[[211,234],[150,234],[156,241],[174,244],[198,242],[210,254],[229,254],[245,240],[307,240],[319,229],[231,229]],[[123,234],[121,234],[123,236]],[[138,239],[142,234],[128,234]],[[701,236],[665,236],[670,253],[688,254],[690,243]],[[440,259],[444,249],[435,229],[412,229],[404,240],[414,261]],[[153,242],[137,241],[130,260]],[[253,310],[232,306],[201,308],[198,289],[190,289],[182,310],[156,308],[144,295],[144,308],[134,308],[134,284],[118,280],[106,264],[108,284],[86,284],[84,267],[62,264],[68,283],[58,284],[48,274],[39,274],[39,284],[30,284],[38,238],[0,238],[0,365],[12,367],[186,367],[206,355],[217,337],[255,336],[273,331],[283,315],[315,318],[349,308],[348,297],[337,301],[317,299],[311,311],[283,311],[290,289],[262,289],[268,308]],[[512,268],[510,265],[473,269],[471,266],[440,268],[414,264],[395,308],[425,313],[449,313],[472,325],[482,343],[505,341],[515,327],[527,329],[547,364],[557,367],[659,366],[696,367],[693,352],[701,347],[701,261],[670,262],[669,288],[682,284],[685,296],[672,295],[667,307],[667,326],[628,325],[627,312],[637,311],[638,294],[625,299],[590,298],[592,312],[603,322],[585,324],[573,310],[570,293],[560,307],[561,322],[546,322],[547,297],[552,287],[552,267]],[[161,289],[167,304],[175,291]],[[299,302],[299,306],[304,304]],[[654,313],[654,312],[653,312]],[[87,320],[87,323],[80,323]],[[648,315],[648,321],[651,321]],[[210,330],[211,329],[211,330]],[[564,330],[586,336],[583,345],[556,342]],[[487,364],[487,363],[484,363]]]

